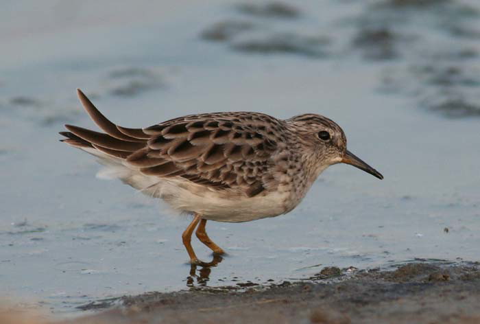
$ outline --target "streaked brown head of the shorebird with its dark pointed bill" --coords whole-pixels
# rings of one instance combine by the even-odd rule
[[[305,114],[287,119],[302,145],[313,154],[318,173],[329,165],[346,163],[358,167],[379,179],[380,172],[363,162],[359,157],[347,150],[347,139],[344,130],[333,120],[316,114]]]

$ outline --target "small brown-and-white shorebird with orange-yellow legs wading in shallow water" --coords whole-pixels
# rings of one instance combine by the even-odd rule
[[[383,176],[346,149],[331,119],[305,114],[276,119],[263,113],[204,113],[147,128],[113,124],[77,89],[95,132],[65,125],[65,143],[99,157],[123,183],[193,214],[182,234],[191,264],[202,264],[191,235],[223,254],[205,231],[207,220],[248,222],[288,213],[328,166],[347,163]]]

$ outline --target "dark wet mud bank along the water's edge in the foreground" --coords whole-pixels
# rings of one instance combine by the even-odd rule
[[[342,271],[331,267],[324,275]],[[478,264],[403,264],[360,270],[340,281],[309,280],[243,290],[149,292],[121,297],[121,306],[74,323],[478,323]],[[113,300],[82,306],[96,310]],[[89,306],[90,305],[90,306]],[[101,307],[99,307],[101,305]],[[88,323],[88,322],[87,322]]]

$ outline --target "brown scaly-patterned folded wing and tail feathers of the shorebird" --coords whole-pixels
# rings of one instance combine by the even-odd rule
[[[73,146],[91,146],[143,174],[180,176],[206,187],[255,196],[269,181],[280,122],[259,113],[213,113],[171,119],[144,129],[110,122],[78,90],[88,115],[107,134],[66,125]],[[273,129],[272,129],[273,128]],[[273,131],[272,131],[273,130]]]

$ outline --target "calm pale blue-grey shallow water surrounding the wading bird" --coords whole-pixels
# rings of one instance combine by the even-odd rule
[[[0,40],[9,44],[0,59],[3,296],[72,314],[89,301],[191,284],[180,238],[189,219],[95,178],[91,156],[58,142],[65,123],[92,127],[76,87],[127,127],[211,111],[320,113],[385,176],[335,165],[285,216],[208,222],[228,252],[208,286],[307,278],[333,265],[480,259],[475,2],[292,1],[293,18],[226,1],[162,1],[149,10],[33,3],[0,13]],[[445,13],[454,17],[448,24]],[[222,21],[254,27],[205,39]],[[451,32],[460,27],[470,33]],[[459,53],[466,49],[468,58]],[[452,100],[468,103],[468,113]]]

